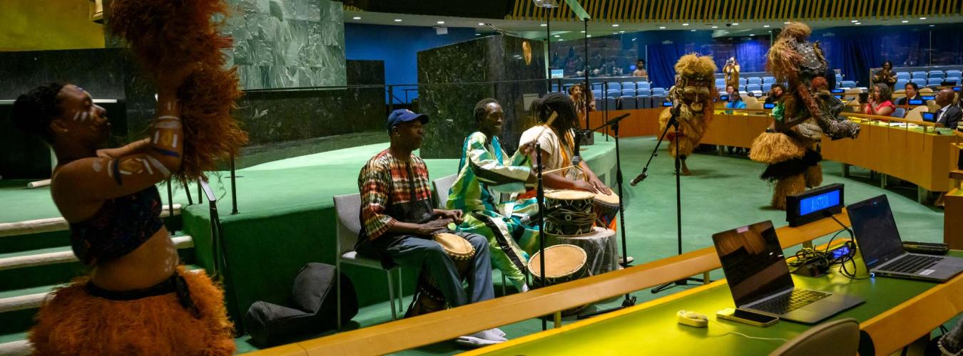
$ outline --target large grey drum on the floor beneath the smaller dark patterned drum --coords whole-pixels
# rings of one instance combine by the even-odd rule
[[[547,246],[566,244],[582,247],[586,251],[588,275],[605,273],[618,267],[618,242],[613,230],[596,227],[590,234],[579,236],[545,234]]]

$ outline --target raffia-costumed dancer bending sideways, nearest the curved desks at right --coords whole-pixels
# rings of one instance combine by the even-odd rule
[[[807,41],[811,32],[803,23],[791,23],[767,54],[767,71],[788,86],[772,109],[772,125],[752,142],[749,158],[768,164],[760,178],[775,183],[771,204],[776,209],[786,209],[787,195],[822,184],[816,140],[823,134],[832,140],[859,135],[859,125],[837,118],[844,104],[827,88],[828,64],[819,43]]]

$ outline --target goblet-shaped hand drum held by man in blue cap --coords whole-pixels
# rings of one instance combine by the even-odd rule
[[[458,269],[458,277],[464,280],[471,267],[472,258],[475,257],[475,247],[464,238],[455,234],[436,234],[434,242],[441,244],[448,256],[455,262]],[[418,275],[418,287],[415,291],[414,299],[404,314],[404,318],[420,316],[437,312],[448,308],[445,295],[438,290],[437,281],[431,277],[427,270],[422,268]]]

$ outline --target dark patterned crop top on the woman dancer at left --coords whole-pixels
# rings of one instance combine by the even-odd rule
[[[104,202],[90,218],[70,224],[70,244],[84,265],[122,257],[164,226],[161,195],[151,186]]]

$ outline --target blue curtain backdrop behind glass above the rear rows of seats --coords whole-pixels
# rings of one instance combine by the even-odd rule
[[[930,39],[932,37],[932,44]],[[634,39],[634,40],[633,40]],[[841,69],[844,80],[857,82],[860,86],[870,84],[870,69],[879,67],[883,61],[900,66],[956,65],[963,64],[963,24],[940,24],[914,26],[848,26],[819,29],[813,32],[811,41],[820,41],[826,60],[832,68]],[[630,73],[623,51],[614,53],[612,43],[632,41],[638,50],[638,58],[646,58],[649,80],[653,87],[668,88],[675,78],[673,65],[679,57],[688,53],[712,55],[721,69],[730,57],[736,57],[743,72],[765,71],[768,36],[713,38],[709,31],[650,31],[641,33],[588,38],[593,63],[611,63],[610,56],[618,65],[625,65],[624,73]],[[583,40],[553,42],[553,52],[568,52],[576,47],[582,53]],[[594,68],[594,67],[593,67]],[[574,75],[566,69],[565,75]]]

